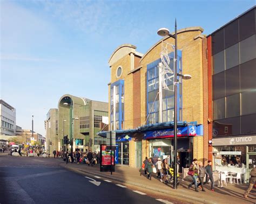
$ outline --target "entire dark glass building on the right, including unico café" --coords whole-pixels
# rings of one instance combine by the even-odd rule
[[[247,171],[256,166],[255,19],[254,6],[207,37],[209,152]]]

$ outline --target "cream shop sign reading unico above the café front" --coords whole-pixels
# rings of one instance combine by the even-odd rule
[[[213,138],[213,146],[256,144],[256,136]]]

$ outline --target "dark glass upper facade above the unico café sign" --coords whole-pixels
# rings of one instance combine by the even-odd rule
[[[253,9],[212,34],[213,137],[256,133],[255,79]]]

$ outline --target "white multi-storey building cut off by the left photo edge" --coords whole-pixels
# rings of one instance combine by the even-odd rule
[[[0,100],[0,135],[13,136],[16,130],[16,110],[10,104]]]

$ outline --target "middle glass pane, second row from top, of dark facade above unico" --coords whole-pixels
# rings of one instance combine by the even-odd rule
[[[225,51],[226,69],[239,65],[239,46],[235,44]]]

